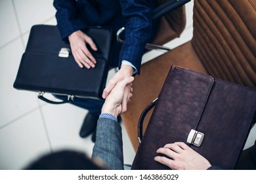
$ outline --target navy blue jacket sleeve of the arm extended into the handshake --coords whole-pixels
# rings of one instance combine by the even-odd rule
[[[140,72],[142,55],[146,42],[149,41],[152,29],[152,9],[148,1],[120,0],[122,14],[125,17],[125,42],[119,55],[121,61],[132,63]]]

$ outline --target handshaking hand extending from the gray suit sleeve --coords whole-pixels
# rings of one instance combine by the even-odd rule
[[[133,92],[133,88],[131,88],[131,82],[133,80],[134,78],[129,76],[116,84],[115,88],[106,97],[106,101],[102,107],[102,113],[109,113],[117,117],[127,110],[127,102]]]

